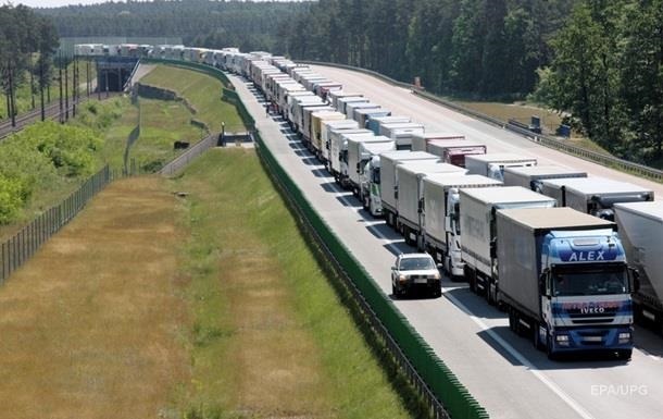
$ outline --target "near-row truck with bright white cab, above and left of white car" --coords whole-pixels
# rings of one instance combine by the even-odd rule
[[[396,151],[396,143],[393,140],[388,143],[363,143],[361,145],[362,161],[360,162],[361,170],[359,173],[359,199],[364,209],[373,217],[379,217],[383,213],[383,206],[379,199],[379,155],[388,151]]]

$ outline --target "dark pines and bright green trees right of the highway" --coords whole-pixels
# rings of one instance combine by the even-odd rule
[[[282,53],[439,94],[529,98],[630,160],[663,160],[663,0],[320,0]]]

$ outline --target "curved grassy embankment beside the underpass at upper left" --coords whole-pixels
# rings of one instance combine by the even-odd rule
[[[207,74],[168,65],[157,65],[141,83],[175,90],[196,109],[195,118],[204,122],[212,132],[242,131],[243,124],[235,107],[221,100],[223,85]]]

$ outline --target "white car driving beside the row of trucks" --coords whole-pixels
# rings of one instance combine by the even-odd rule
[[[401,254],[391,267],[391,294],[400,297],[421,288],[434,297],[442,295],[441,275],[428,254]]]

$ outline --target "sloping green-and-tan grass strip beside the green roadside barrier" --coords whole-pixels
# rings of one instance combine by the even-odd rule
[[[188,417],[421,416],[342,306],[254,151],[214,149],[173,181],[191,239]]]

